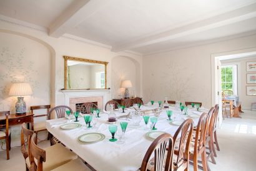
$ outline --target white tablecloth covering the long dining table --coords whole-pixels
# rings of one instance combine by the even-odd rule
[[[142,109],[152,109],[151,106],[143,106]],[[173,109],[174,108],[170,108]],[[132,110],[132,109],[129,109]],[[189,114],[194,114],[194,109],[189,109]],[[207,110],[205,110],[207,112]],[[116,111],[117,116],[124,114]],[[174,110],[175,120],[187,119],[188,116],[184,114],[179,114],[180,111]],[[126,113],[127,114],[127,113]],[[152,140],[147,139],[145,131],[143,128],[145,126],[144,120],[142,118],[140,122],[140,127],[134,127],[129,122],[126,130],[126,141],[125,144],[117,144],[116,142],[110,142],[111,133],[108,129],[107,124],[107,114],[101,114],[101,118],[98,121],[98,129],[86,129],[84,118],[79,118],[79,123],[83,126],[72,130],[62,130],[59,128],[61,124],[67,122],[67,119],[52,119],[46,121],[46,128],[52,135],[57,137],[65,146],[72,149],[77,155],[84,159],[88,164],[90,164],[96,170],[137,170],[140,168],[142,159],[144,158],[145,152],[149,148]],[[126,121],[126,120],[120,120]],[[197,124],[198,119],[194,119],[195,124]],[[149,121],[150,124],[150,121]],[[148,125],[149,125],[148,124]],[[121,131],[120,124],[117,123],[118,131]],[[174,126],[167,121],[167,115],[165,109],[159,116],[157,124],[157,131],[164,131],[172,136],[175,134],[179,126]],[[77,137],[88,132],[101,132],[106,136],[103,141],[97,142],[95,144],[82,144],[77,141]]]

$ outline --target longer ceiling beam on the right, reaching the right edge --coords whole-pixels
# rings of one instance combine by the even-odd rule
[[[157,44],[159,42],[177,39],[186,35],[233,24],[235,22],[245,21],[254,17],[256,17],[256,3],[199,22],[194,22],[175,29],[169,29],[160,32],[159,34],[141,37],[140,39],[131,40],[124,44],[113,45],[112,51],[120,52],[122,50],[130,50],[146,45]]]

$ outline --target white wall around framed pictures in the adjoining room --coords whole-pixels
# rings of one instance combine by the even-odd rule
[[[256,96],[247,96],[246,95],[246,86],[249,85],[255,85],[255,84],[247,84],[247,72],[246,71],[246,63],[247,62],[253,62],[256,61],[256,57],[250,57],[250,58],[237,58],[234,60],[222,60],[222,64],[227,63],[234,63],[240,65],[240,70],[238,71],[238,77],[240,82],[238,83],[238,95],[239,95],[239,101],[242,103],[243,109],[250,109],[252,103],[256,103]]]

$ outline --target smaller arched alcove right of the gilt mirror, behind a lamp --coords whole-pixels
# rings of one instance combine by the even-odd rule
[[[124,88],[121,88],[122,80],[132,81],[132,88],[129,88],[131,96],[141,95],[141,66],[134,58],[118,55],[111,60],[111,89],[112,98],[120,98],[124,95]]]

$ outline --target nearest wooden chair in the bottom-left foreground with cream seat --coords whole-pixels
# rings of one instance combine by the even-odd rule
[[[91,170],[85,164],[82,163],[80,159],[72,159],[69,161],[64,161],[57,165],[53,165],[51,167],[47,167],[48,161],[51,159],[50,153],[47,150],[41,149],[37,144],[34,142],[36,139],[36,134],[33,134],[31,137],[31,156],[30,159],[30,166],[29,170],[31,171],[47,171],[47,170]],[[54,154],[56,155],[56,154]],[[58,155],[59,156],[59,155]],[[55,157],[59,158],[59,157]]]

